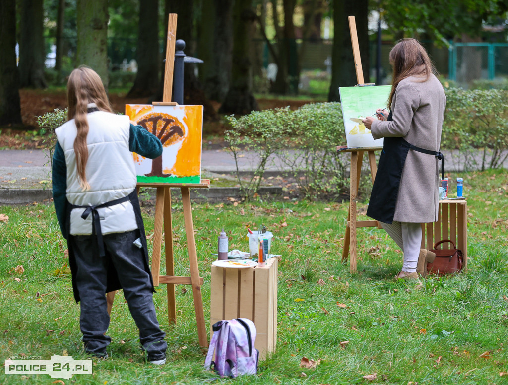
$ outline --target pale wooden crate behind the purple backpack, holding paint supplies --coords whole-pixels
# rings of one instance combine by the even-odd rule
[[[277,344],[277,258],[255,268],[231,269],[212,266],[210,293],[211,326],[223,319],[249,318],[256,325],[256,348],[260,360]]]

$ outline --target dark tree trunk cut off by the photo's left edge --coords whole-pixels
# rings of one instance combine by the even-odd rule
[[[16,0],[0,1],[0,124],[20,124],[16,67]]]

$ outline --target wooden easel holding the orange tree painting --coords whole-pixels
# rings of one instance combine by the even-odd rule
[[[175,106],[171,102],[173,87],[173,67],[176,42],[176,21],[177,15],[170,14],[168,21],[168,39],[166,43],[166,67],[164,71],[164,93],[162,102],[153,102],[153,105]],[[203,179],[202,183],[138,183],[140,187],[156,187],[155,198],[155,224],[153,230],[153,252],[151,271],[153,285],[166,283],[168,286],[168,318],[169,324],[176,324],[176,298],[175,284],[192,285],[194,296],[194,308],[196,310],[196,320],[198,327],[199,344],[208,347],[208,337],[205,326],[205,315],[203,311],[203,299],[201,295],[201,286],[204,283],[199,275],[198,254],[196,250],[196,239],[194,238],[194,224],[192,217],[192,208],[190,207],[189,188],[209,188],[210,180]],[[179,187],[182,195],[183,219],[185,223],[185,235],[187,238],[187,251],[189,257],[190,277],[175,276],[173,259],[173,228],[171,220],[171,187]],[[166,274],[161,272],[161,247],[162,234],[164,226],[164,243],[166,246]],[[111,310],[113,304],[114,292],[108,293],[108,310]]]

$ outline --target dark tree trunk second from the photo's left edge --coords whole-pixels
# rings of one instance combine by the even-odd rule
[[[20,87],[46,88],[43,0],[22,0],[19,36]]]

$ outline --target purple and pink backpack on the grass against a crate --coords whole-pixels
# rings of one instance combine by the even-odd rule
[[[250,319],[223,319],[214,324],[212,330],[205,369],[213,363],[219,375],[229,377],[258,372],[259,351],[254,347],[257,332]],[[214,352],[215,361],[212,361]]]

